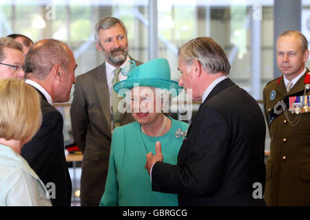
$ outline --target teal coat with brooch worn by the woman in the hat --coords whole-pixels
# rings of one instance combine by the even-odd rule
[[[138,122],[114,129],[100,206],[178,206],[178,195],[152,191],[145,162],[147,153],[155,153],[155,143],[160,141],[163,162],[176,164],[183,142],[182,136],[176,137],[176,131],[187,128],[187,123],[172,119],[171,129],[161,137],[145,135]]]

